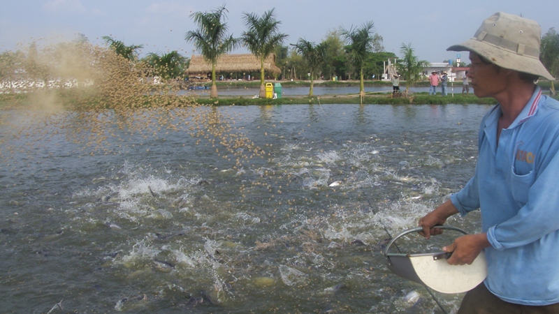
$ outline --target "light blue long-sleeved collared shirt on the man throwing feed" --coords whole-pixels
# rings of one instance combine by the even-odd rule
[[[474,177],[451,202],[464,216],[481,209],[488,290],[524,305],[559,302],[559,102],[536,87],[497,144],[500,105],[479,130]]]

